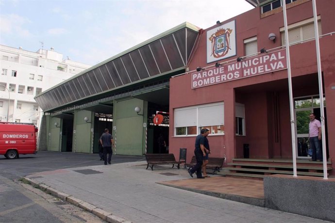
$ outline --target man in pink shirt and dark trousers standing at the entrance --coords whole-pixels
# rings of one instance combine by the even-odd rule
[[[321,123],[318,119],[315,119],[315,114],[309,114],[309,146],[313,151],[312,159],[310,161],[321,161]]]

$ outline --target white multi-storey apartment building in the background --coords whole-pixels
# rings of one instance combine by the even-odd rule
[[[0,45],[0,122],[39,127],[42,110],[34,96],[90,66],[63,60],[63,54],[53,48],[31,52]]]

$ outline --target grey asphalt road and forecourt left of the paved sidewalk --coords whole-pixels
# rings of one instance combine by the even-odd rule
[[[144,159],[144,157],[113,155],[112,162],[131,162]],[[103,222],[97,216],[19,180],[33,173],[94,165],[103,165],[98,154],[39,151],[35,155],[20,155],[19,159],[6,159],[1,156],[0,222]]]

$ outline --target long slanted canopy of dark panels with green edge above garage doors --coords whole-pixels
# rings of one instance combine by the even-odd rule
[[[48,112],[101,93],[141,84],[143,80],[164,78],[185,69],[198,31],[199,28],[183,23],[63,81],[35,96],[35,100]]]

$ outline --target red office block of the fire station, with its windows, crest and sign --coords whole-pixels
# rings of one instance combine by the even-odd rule
[[[308,116],[314,112],[319,119],[321,113],[313,8],[310,0],[286,6],[296,135],[293,149],[298,159],[307,160],[311,159]],[[335,16],[329,9],[334,7],[334,1],[317,1],[330,161],[335,158]],[[283,11],[278,7],[263,13],[263,9],[256,7],[203,30],[188,64],[190,72],[170,79],[171,152],[190,148],[190,160],[195,136],[205,127],[211,132],[211,156],[226,157],[228,163],[237,158],[292,159]]]

